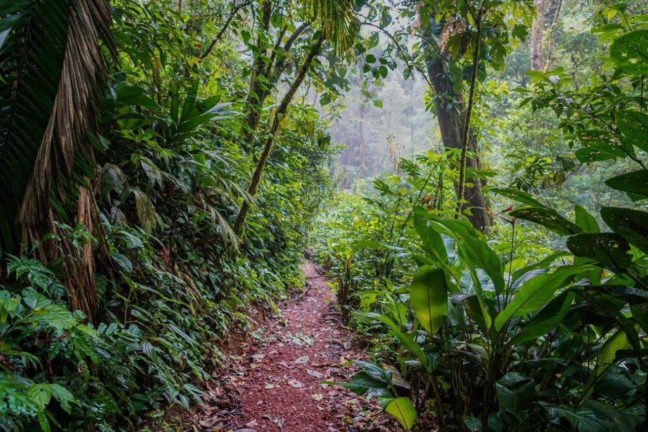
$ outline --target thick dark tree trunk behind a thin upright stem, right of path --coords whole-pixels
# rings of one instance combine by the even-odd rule
[[[434,92],[437,95],[434,98],[435,111],[437,120],[439,120],[443,145],[448,148],[461,149],[463,144],[463,127],[467,111],[463,95],[454,90],[452,78],[446,73],[443,62],[439,57],[435,55],[428,56],[426,66],[432,87],[434,87]],[[448,96],[448,99],[442,96]],[[448,105],[452,100],[455,101],[454,106],[449,107]],[[477,152],[477,138],[472,128],[469,129],[468,150],[470,152]],[[466,166],[467,168],[472,168],[472,170],[479,170],[479,158],[477,156],[467,157]],[[471,209],[472,215],[468,218],[475,228],[480,230],[487,229],[491,226],[491,219],[487,211],[484,210],[486,208],[486,200],[481,190],[481,179],[479,177],[467,177],[467,179],[473,185],[472,187],[466,187],[464,190],[463,198],[467,201],[466,207],[481,207],[480,209]]]

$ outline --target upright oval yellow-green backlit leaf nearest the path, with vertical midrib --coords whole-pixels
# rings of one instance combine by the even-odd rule
[[[432,266],[418,269],[411,282],[410,303],[421,326],[430,335],[436,334],[448,317],[448,288],[443,270]]]

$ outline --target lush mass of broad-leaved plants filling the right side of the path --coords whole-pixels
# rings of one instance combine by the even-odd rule
[[[386,206],[385,196],[399,194],[376,180],[380,198],[341,198],[336,216],[349,241],[340,239],[345,234],[330,240],[322,256],[338,290],[349,284],[347,307],[355,325],[369,330],[375,360],[356,362],[362,371],[341,385],[377,398],[404,429],[426,413],[445,429],[482,431],[645,424],[648,115],[640,93],[648,30],[641,18],[630,26],[605,28],[610,76],[573,91],[561,71],[529,73],[522,103],[552,109],[553,133],[578,146],[565,156],[567,174],[626,159],[631,168],[605,184],[612,194],[625,192],[618,202],[631,207],[601,207],[594,216],[576,205],[567,218],[527,187],[550,175],[543,168],[531,170],[529,182],[518,172],[507,187],[490,188],[508,208],[492,213],[498,223],[486,234],[452,203],[430,205],[434,187],[412,183],[404,200]],[[394,178],[393,185],[408,181]],[[450,201],[453,192],[446,189]],[[354,218],[358,209],[369,217]],[[351,234],[358,224],[365,235]],[[538,226],[566,239],[568,250],[535,247],[538,240],[556,245],[534,234]]]

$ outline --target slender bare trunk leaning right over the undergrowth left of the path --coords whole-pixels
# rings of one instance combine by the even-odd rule
[[[275,112],[275,116],[272,121],[272,128],[270,128],[268,139],[266,139],[266,145],[264,146],[261,152],[261,155],[259,157],[259,162],[257,163],[257,167],[254,170],[254,174],[252,176],[252,180],[248,188],[248,193],[250,194],[250,196],[254,196],[254,194],[257,193],[257,188],[259,187],[261,175],[263,174],[263,167],[264,165],[266,165],[266,161],[268,160],[268,156],[270,155],[270,150],[272,150],[272,144],[274,142],[275,133],[277,133],[277,130],[279,129],[279,123],[281,123],[281,120],[283,119],[284,115],[286,115],[286,111],[288,111],[288,106],[290,105],[290,102],[292,102],[292,98],[295,96],[297,89],[299,89],[301,83],[304,82],[304,78],[306,78],[308,69],[310,68],[310,65],[312,64],[313,60],[315,60],[315,56],[317,56],[319,49],[321,49],[321,45],[323,41],[324,41],[324,36],[323,35],[319,36],[319,39],[316,42],[315,47],[313,47],[311,51],[308,53],[308,56],[302,63],[301,68],[299,69],[299,73],[295,77],[294,82],[292,83],[292,85],[290,85],[288,92],[286,93],[286,95],[284,95],[284,98],[281,101],[281,105],[279,105],[279,108],[277,108],[277,111]],[[234,223],[235,233],[237,234],[242,233],[245,224],[245,218],[248,214],[248,210],[249,210],[248,202],[243,201],[243,204],[241,205],[241,209],[238,212],[237,220]]]

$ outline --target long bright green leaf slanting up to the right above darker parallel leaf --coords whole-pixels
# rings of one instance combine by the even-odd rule
[[[536,276],[522,285],[522,288],[500,312],[495,319],[496,330],[516,317],[522,317],[529,312],[542,308],[559,288],[564,288],[571,282],[574,275],[583,271],[582,266],[560,266],[553,273]]]

